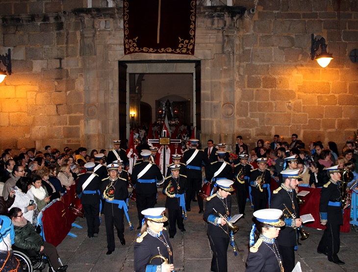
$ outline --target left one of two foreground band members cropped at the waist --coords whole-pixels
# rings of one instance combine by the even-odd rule
[[[170,272],[174,271],[173,247],[163,223],[165,208],[150,208],[142,211],[144,223],[134,244],[135,272]],[[163,262],[164,258],[167,263]],[[151,262],[152,261],[152,262]]]

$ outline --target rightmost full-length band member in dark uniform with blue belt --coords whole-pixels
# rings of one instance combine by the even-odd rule
[[[337,265],[345,263],[339,260],[339,231],[343,225],[343,213],[341,207],[341,185],[338,165],[327,168],[327,175],[330,177],[322,187],[321,199],[319,201],[319,216],[321,225],[326,226],[321,241],[318,244],[317,252],[327,255],[328,260]],[[348,204],[343,207],[347,208]]]

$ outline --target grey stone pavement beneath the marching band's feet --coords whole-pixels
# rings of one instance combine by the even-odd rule
[[[165,197],[158,192],[158,204],[156,207],[164,206]],[[211,250],[206,236],[206,224],[202,214],[199,214],[197,202],[192,202],[191,212],[188,212],[188,219],[184,221],[186,232],[177,232],[174,239],[171,239],[174,248],[175,271],[185,272],[209,272],[211,261]],[[238,213],[236,198],[233,197],[232,214]],[[240,230],[235,234],[235,241],[238,246],[238,255],[235,257],[232,247],[228,248],[229,271],[245,271],[245,261],[248,255],[248,242],[251,230],[253,209],[247,202],[246,216],[241,218],[236,225]],[[129,217],[134,228],[138,223],[137,210],[133,201],[129,202]],[[116,249],[111,255],[106,255],[106,235],[104,227],[104,216],[98,238],[89,239],[86,235],[85,219],[77,218],[76,223],[83,226],[82,229],[73,228],[72,232],[77,238],[67,236],[57,247],[61,260],[69,267],[68,272],[133,272],[133,247],[138,230],[129,230],[125,219],[126,245],[122,246],[116,237]],[[353,272],[358,269],[357,258],[357,237],[355,232],[341,233],[341,247],[339,257],[346,264],[335,265],[327,260],[323,254],[317,253],[317,245],[321,239],[323,230],[306,228],[309,238],[302,242],[296,251],[296,261],[301,262],[304,272]],[[116,235],[115,235],[116,236]]]

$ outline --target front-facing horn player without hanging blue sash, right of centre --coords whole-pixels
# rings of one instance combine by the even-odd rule
[[[234,186],[236,188],[239,213],[245,215],[247,193],[249,192],[249,178],[252,166],[247,163],[248,154],[239,155],[239,162],[234,165]]]

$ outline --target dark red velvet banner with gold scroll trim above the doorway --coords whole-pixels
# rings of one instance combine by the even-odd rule
[[[124,0],[125,54],[194,55],[196,0]]]

